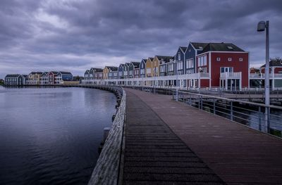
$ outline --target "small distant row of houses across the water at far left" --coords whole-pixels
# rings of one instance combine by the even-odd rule
[[[72,81],[71,72],[50,71],[50,72],[30,72],[29,75],[6,75],[6,85],[43,85],[43,84],[63,84]]]

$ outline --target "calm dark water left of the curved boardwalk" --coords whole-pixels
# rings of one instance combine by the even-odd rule
[[[0,87],[0,184],[87,184],[115,104],[97,89]]]

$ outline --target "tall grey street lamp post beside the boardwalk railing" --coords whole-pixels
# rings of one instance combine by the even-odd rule
[[[257,32],[263,32],[266,30],[266,53],[265,53],[265,79],[264,79],[264,89],[265,89],[265,131],[269,132],[269,20],[259,21],[257,24]]]

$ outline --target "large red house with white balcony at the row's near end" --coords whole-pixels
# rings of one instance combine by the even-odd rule
[[[197,72],[209,75],[200,79],[199,87],[249,87],[249,53],[234,44],[209,43],[196,61]]]

